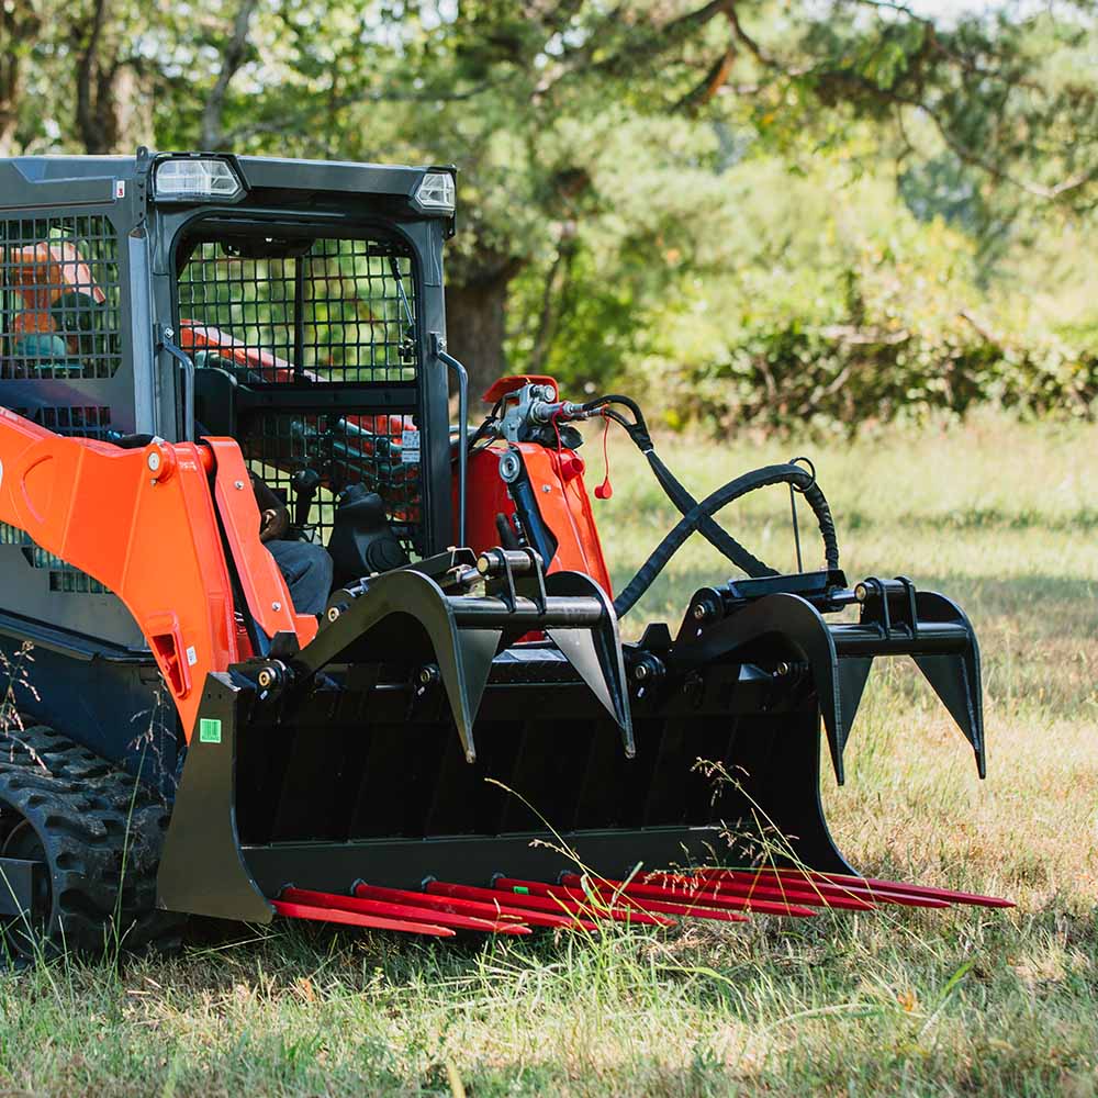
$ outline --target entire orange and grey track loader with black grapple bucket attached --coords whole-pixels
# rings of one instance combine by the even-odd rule
[[[504,378],[470,429],[452,169],[23,158],[0,208],[16,941],[167,944],[187,912],[449,937],[996,903],[858,876],[820,807],[821,740],[841,782],[878,656],[914,658],[983,775],[965,615],[907,579],[849,584],[804,463],[695,500],[628,397]],[[682,514],[616,598],[591,421]],[[294,607],[253,477],[329,553],[323,613]],[[814,515],[818,570],[777,574],[717,523],[768,485]],[[694,534],[736,578],[623,643]]]

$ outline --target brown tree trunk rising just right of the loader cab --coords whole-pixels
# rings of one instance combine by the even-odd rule
[[[478,265],[479,266],[479,265]],[[450,354],[469,371],[469,407],[477,418],[481,395],[507,372],[507,289],[522,261],[479,266],[446,288],[446,334]]]

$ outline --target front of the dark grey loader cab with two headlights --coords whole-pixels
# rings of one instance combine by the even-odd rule
[[[340,504],[377,493],[389,559],[445,547],[452,173],[166,157],[150,181],[173,438],[235,438],[296,538],[328,545]]]

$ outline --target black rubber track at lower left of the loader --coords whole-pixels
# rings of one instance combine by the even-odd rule
[[[36,942],[25,920],[9,926],[15,951],[99,955],[179,948],[182,920],[156,909],[168,808],[133,775],[41,725],[0,732],[0,814],[9,813],[35,832],[52,885]],[[9,837],[5,829],[0,852]]]

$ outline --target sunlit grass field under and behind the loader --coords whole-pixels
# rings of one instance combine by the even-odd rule
[[[806,448],[848,574],[906,573],[955,596],[985,662],[984,783],[929,688],[878,663],[848,784],[825,778],[839,845],[865,871],[1007,895],[1016,910],[517,944],[199,935],[179,959],[121,971],[0,975],[0,1095],[1098,1094],[1098,428],[988,417],[853,445],[663,452],[702,493]],[[612,456],[598,513],[620,583],[671,513],[639,458]],[[792,565],[783,492],[726,520]],[[676,621],[722,574],[692,544],[638,617]]]

